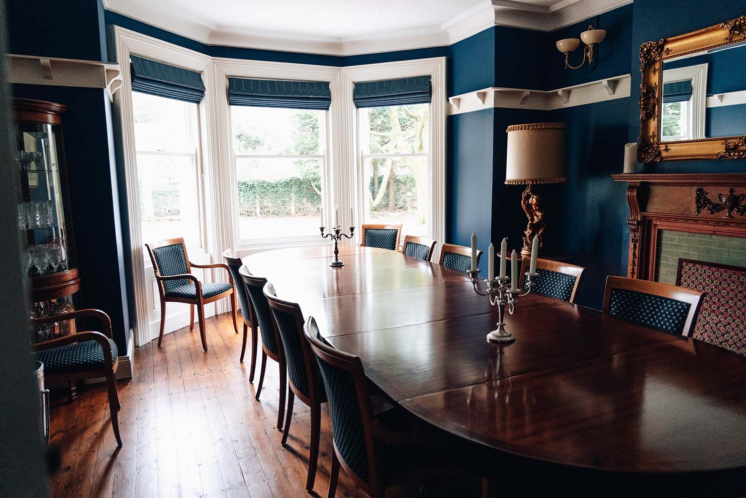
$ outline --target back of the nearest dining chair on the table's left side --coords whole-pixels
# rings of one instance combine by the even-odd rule
[[[368,494],[379,496],[373,489],[380,477],[373,444],[373,403],[363,363],[359,357],[325,344],[313,316],[304,325],[304,335],[324,379],[334,453],[348,476]],[[365,461],[354,458],[355,454],[364,455]]]

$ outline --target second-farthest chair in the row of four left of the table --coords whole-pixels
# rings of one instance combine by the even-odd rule
[[[259,385],[257,385],[257,394],[255,399],[259,399],[264,384],[264,371],[267,366],[267,358],[275,360],[280,366],[280,403],[278,406],[278,429],[282,430],[283,415],[285,415],[285,388],[286,388],[286,368],[283,359],[282,343],[277,337],[275,325],[272,324],[272,312],[269,310],[269,303],[264,296],[264,286],[267,279],[257,277],[251,274],[248,268],[243,265],[239,268],[239,274],[246,288],[249,302],[251,303],[251,335],[255,335],[259,327],[259,335],[262,338],[262,364],[259,367]]]

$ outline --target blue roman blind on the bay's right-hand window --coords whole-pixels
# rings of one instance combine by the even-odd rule
[[[355,83],[352,100],[357,107],[424,104],[430,102],[432,92],[430,76],[363,81]]]

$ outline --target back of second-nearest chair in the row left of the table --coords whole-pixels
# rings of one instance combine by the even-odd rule
[[[298,303],[292,303],[277,297],[275,286],[271,282],[264,285],[264,296],[272,310],[275,336],[283,347],[290,387],[295,395],[307,405],[325,399],[324,388],[316,384],[316,358],[311,352],[303,333],[303,312]]]

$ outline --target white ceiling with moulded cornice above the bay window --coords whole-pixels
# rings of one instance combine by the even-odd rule
[[[509,25],[551,31],[633,0],[104,0],[210,45],[349,55],[448,45]]]

